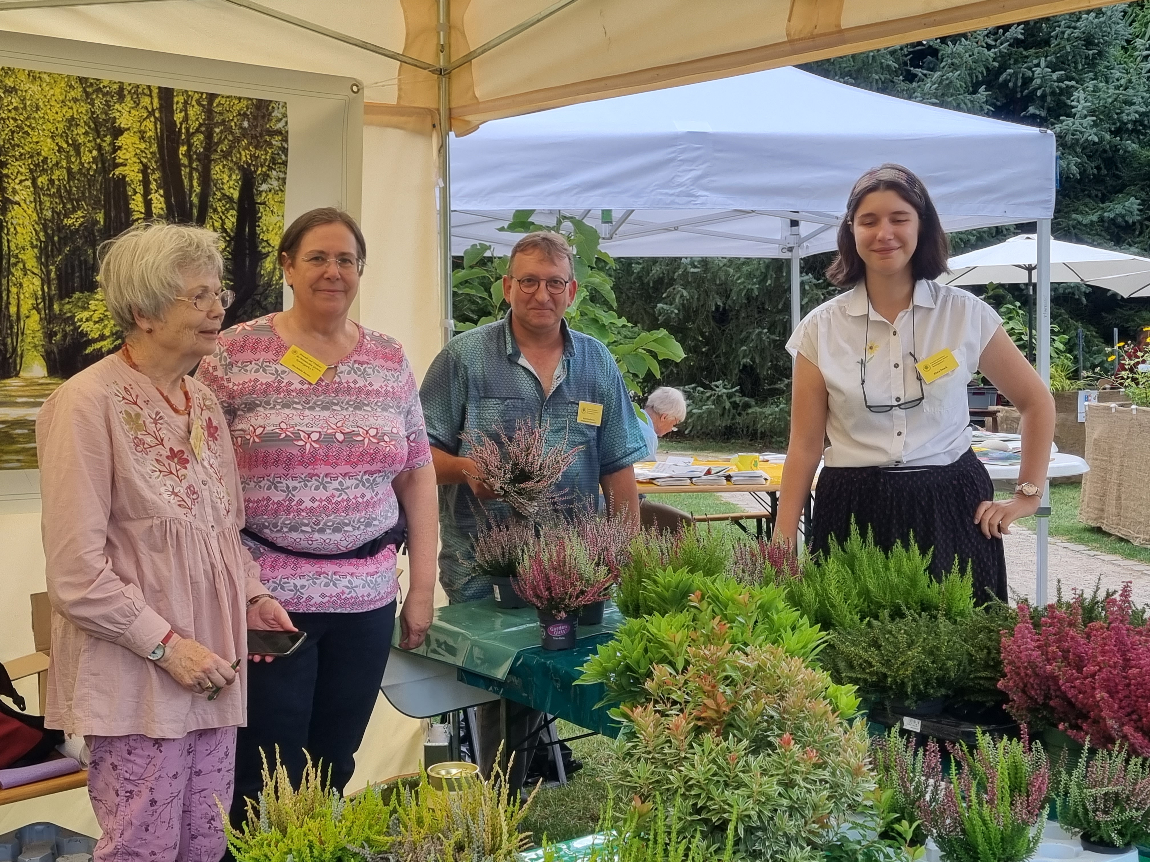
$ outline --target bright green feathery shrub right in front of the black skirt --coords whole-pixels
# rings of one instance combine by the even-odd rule
[[[896,544],[887,553],[864,540],[853,525],[845,544],[831,542],[821,559],[808,560],[799,578],[787,578],[788,601],[812,623],[849,629],[880,614],[891,618],[938,614],[957,621],[974,610],[974,584],[958,563],[941,580],[928,571],[930,553]]]

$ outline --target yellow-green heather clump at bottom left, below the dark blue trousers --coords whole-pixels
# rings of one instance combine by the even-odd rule
[[[278,753],[277,753],[278,756]],[[236,830],[221,806],[228,847],[237,862],[515,862],[528,844],[519,825],[526,803],[508,793],[498,767],[491,782],[469,779],[448,790],[427,774],[414,786],[367,787],[346,799],[308,761],[299,788],[277,763],[263,764],[259,803]]]

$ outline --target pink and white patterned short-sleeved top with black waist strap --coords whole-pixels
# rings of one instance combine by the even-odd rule
[[[310,384],[279,364],[290,345],[274,320],[222,332],[195,376],[228,417],[247,528],[293,551],[352,551],[394,526],[392,479],[431,463],[415,376],[396,339],[360,326],[335,378]],[[391,547],[329,562],[244,542],[291,611],[375,610],[398,592]]]

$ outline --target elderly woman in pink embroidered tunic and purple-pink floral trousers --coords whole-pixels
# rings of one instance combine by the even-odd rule
[[[245,722],[247,628],[291,630],[239,539],[218,402],[187,374],[231,303],[218,237],[150,224],[103,249],[124,346],[36,422],[52,601],[46,724],[83,736],[95,862],[216,860]],[[238,670],[237,670],[238,669]]]

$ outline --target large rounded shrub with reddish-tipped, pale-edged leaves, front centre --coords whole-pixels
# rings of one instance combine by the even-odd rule
[[[734,830],[738,860],[816,860],[874,786],[865,723],[846,722],[830,677],[781,647],[689,646],[682,670],[659,664],[643,688],[621,710],[612,783],[678,799],[716,852]]]

